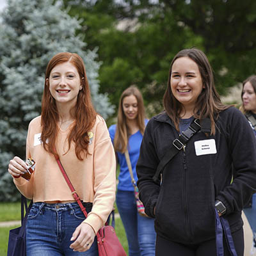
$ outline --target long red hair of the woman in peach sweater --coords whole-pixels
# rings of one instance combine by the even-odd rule
[[[53,56],[47,65],[45,72],[44,93],[42,97],[41,140],[45,150],[51,154],[54,154],[54,156],[58,156],[57,152],[55,151],[55,143],[58,134],[57,122],[60,118],[55,99],[50,93],[49,83],[47,83],[47,81],[49,81],[52,68],[67,61],[72,63],[74,67],[77,68],[83,87],[77,95],[77,103],[75,107],[76,111],[74,111],[76,123],[68,135],[68,150],[70,149],[70,143],[74,141],[76,145],[76,156],[79,160],[83,160],[84,156],[87,156],[88,154],[88,131],[90,131],[95,124],[97,113],[92,105],[84,62],[76,53],[60,52]]]

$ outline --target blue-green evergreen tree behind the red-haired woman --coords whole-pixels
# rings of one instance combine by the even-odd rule
[[[40,115],[44,72],[54,54],[79,54],[95,108],[104,118],[113,113],[107,95],[99,93],[97,53],[86,49],[83,38],[76,35],[79,20],[61,7],[61,1],[54,0],[8,0],[1,13],[0,201],[19,198],[8,162],[15,155],[25,159],[26,131],[29,121]]]

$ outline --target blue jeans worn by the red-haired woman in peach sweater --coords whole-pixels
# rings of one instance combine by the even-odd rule
[[[84,203],[86,211],[91,203]],[[97,238],[86,252],[73,252],[69,248],[76,227],[85,219],[79,205],[34,203],[28,215],[26,227],[27,256],[98,256]]]

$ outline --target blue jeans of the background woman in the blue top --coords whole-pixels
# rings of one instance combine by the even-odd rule
[[[134,192],[118,190],[116,205],[124,224],[129,256],[154,256],[156,248],[154,219],[138,214]]]

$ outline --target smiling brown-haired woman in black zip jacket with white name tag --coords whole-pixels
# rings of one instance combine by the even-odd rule
[[[238,109],[221,103],[211,65],[195,48],[173,58],[163,102],[164,112],[145,129],[137,164],[140,198],[156,218],[156,255],[243,255],[241,210],[256,191],[250,125]],[[228,224],[230,243],[221,230]]]

